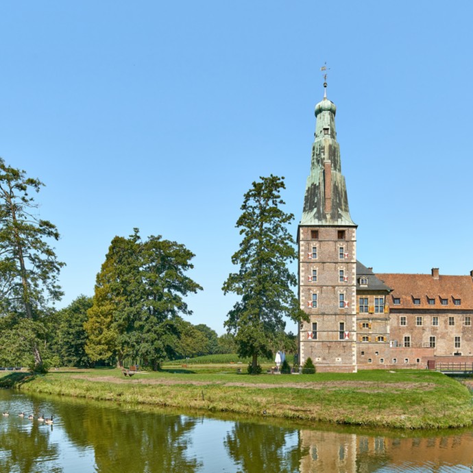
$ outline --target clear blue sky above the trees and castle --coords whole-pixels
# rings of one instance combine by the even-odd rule
[[[260,175],[285,176],[295,234],[324,62],[359,260],[468,274],[472,19],[470,0],[1,2],[0,156],[47,185],[59,306],[138,227],[196,254],[189,320],[223,333]]]

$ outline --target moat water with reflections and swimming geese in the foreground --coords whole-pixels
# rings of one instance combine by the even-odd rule
[[[8,390],[0,411],[5,473],[473,472],[473,430],[301,427]]]

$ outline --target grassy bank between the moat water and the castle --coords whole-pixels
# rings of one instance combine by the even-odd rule
[[[400,370],[357,374],[237,374],[234,366],[178,365],[125,378],[118,369],[10,374],[0,386],[124,404],[201,409],[390,428],[473,425],[467,387],[439,373]]]

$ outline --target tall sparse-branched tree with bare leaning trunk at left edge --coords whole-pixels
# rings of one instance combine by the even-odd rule
[[[59,239],[56,226],[38,217],[37,204],[29,196],[43,185],[0,158],[0,308],[3,314],[36,322],[29,324],[38,328],[32,343],[36,369],[43,369],[37,322],[47,303],[62,297],[58,276],[64,265],[48,243]]]

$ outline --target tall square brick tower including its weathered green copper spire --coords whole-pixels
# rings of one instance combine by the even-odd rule
[[[299,300],[310,322],[300,324],[300,363],[318,372],[356,372],[356,225],[348,210],[335,132],[337,108],[315,106],[315,140],[298,227]]]

